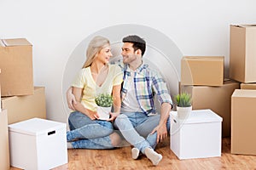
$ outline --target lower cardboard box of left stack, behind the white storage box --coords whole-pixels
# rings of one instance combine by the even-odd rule
[[[8,110],[8,124],[33,117],[45,119],[44,87],[35,87],[33,95],[2,98],[2,107]]]

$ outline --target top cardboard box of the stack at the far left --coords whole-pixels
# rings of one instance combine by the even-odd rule
[[[33,94],[32,44],[25,38],[0,40],[2,96]]]

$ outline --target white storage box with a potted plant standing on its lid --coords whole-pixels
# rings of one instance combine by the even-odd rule
[[[171,150],[178,159],[221,156],[222,117],[211,110],[191,111],[186,120],[171,112]]]

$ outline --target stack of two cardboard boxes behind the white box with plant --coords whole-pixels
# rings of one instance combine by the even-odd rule
[[[224,56],[184,56],[180,92],[192,95],[193,110],[210,109],[223,118],[222,137],[230,136],[231,95],[239,83],[224,80]]]

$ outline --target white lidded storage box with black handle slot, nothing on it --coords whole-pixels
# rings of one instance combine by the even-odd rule
[[[40,118],[9,125],[10,164],[26,170],[67,163],[66,123]]]

